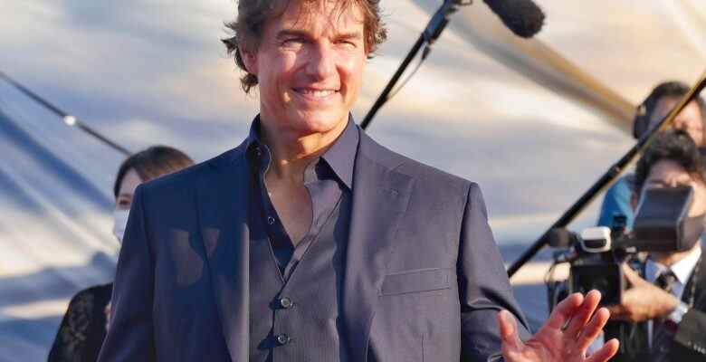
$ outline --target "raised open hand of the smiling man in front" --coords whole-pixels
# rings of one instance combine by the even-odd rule
[[[591,356],[586,350],[600,334],[610,317],[605,308],[596,311],[601,294],[590,291],[586,298],[579,293],[568,296],[551,312],[547,322],[530,340],[522,342],[517,324],[510,313],[498,313],[502,356],[506,362],[605,362],[615,355],[616,339],[608,341]],[[594,313],[594,311],[596,311]]]

